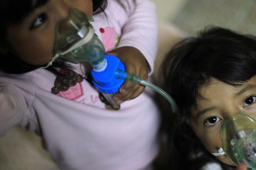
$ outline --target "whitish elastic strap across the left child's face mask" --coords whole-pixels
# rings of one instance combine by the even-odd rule
[[[78,47],[88,43],[92,39],[93,35],[94,35],[94,29],[90,25],[89,31],[83,39],[79,40],[77,43],[75,43],[73,46],[71,46],[68,50],[66,50],[62,53],[55,54],[54,57],[51,59],[51,61],[45,67],[42,67],[42,68],[46,69],[47,67],[51,66],[53,64],[53,61],[56,60],[60,55],[65,55],[65,54],[73,51],[74,49],[77,49]]]

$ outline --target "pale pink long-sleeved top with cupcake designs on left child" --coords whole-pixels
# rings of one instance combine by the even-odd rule
[[[95,33],[106,51],[133,46],[153,71],[157,51],[155,6],[148,0],[108,0],[94,16]],[[159,110],[146,90],[107,110],[83,77],[86,64],[56,76],[45,69],[21,75],[0,73],[0,136],[14,125],[36,131],[60,169],[139,170],[158,153]]]

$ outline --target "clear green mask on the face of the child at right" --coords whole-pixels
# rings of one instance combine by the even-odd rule
[[[239,113],[224,121],[224,154],[237,166],[241,161],[256,170],[256,119]]]

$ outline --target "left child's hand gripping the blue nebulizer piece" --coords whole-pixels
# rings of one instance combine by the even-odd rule
[[[148,63],[143,54],[133,47],[120,47],[107,54],[115,55],[125,65],[125,71],[142,79],[148,79]],[[144,91],[145,86],[131,81],[125,81],[120,87],[119,92],[114,94],[114,100],[117,104],[125,100],[131,100],[138,97]]]

